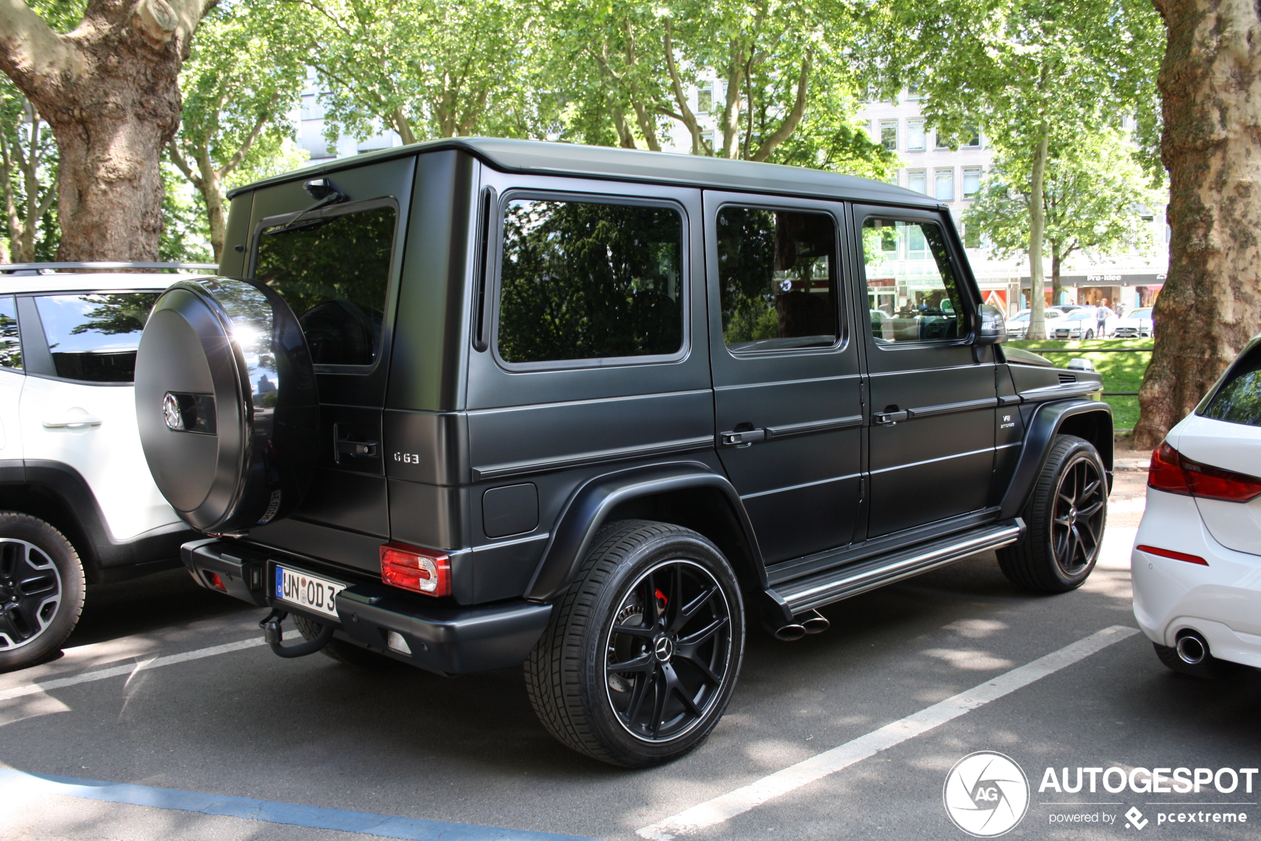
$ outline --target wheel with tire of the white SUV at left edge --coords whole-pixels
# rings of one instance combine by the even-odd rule
[[[83,564],[66,536],[28,514],[0,512],[0,672],[59,651],[83,610]]]

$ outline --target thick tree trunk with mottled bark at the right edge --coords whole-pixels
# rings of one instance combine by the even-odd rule
[[[1169,276],[1156,300],[1135,446],[1194,409],[1261,315],[1261,21],[1243,0],[1156,0]]]

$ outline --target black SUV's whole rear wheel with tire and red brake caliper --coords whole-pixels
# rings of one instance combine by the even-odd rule
[[[743,657],[744,603],[719,548],[681,526],[619,521],[556,601],[526,690],[567,748],[647,768],[709,736]]]

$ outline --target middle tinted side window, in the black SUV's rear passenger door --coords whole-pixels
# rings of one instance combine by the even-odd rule
[[[826,213],[718,213],[723,339],[733,351],[836,342],[836,227]]]

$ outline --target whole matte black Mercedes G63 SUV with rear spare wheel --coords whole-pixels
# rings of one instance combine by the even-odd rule
[[[189,571],[282,656],[523,663],[557,739],[637,767],[712,730],[747,619],[794,639],[991,548],[1033,590],[1093,569],[1101,378],[1004,352],[924,195],[458,139],[231,199],[136,411]]]

